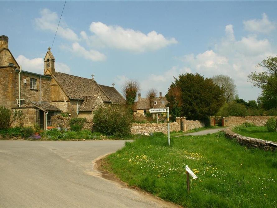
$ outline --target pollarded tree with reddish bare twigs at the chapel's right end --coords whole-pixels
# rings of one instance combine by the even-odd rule
[[[139,90],[140,85],[137,80],[127,80],[122,86],[122,92],[129,107],[134,105]]]

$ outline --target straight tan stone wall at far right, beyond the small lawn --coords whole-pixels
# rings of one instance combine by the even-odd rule
[[[277,116],[274,116],[277,118]],[[265,125],[266,121],[270,118],[270,116],[229,116],[224,117],[224,126],[237,126],[244,122],[254,123],[257,126]]]

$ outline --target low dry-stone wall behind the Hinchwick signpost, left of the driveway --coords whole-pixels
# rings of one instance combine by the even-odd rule
[[[169,123],[170,131],[179,131],[180,124],[177,122]],[[162,132],[167,134],[167,123],[132,123],[132,134]]]

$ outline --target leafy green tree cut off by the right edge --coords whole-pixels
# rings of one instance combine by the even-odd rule
[[[263,67],[263,72],[252,72],[248,78],[254,87],[262,89],[262,96],[259,98],[265,109],[277,107],[277,56],[268,57],[257,67]]]

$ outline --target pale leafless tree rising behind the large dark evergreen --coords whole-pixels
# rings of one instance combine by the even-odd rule
[[[235,81],[227,75],[215,75],[212,78],[214,84],[218,85],[224,91],[226,102],[230,102],[235,98],[237,86]]]

